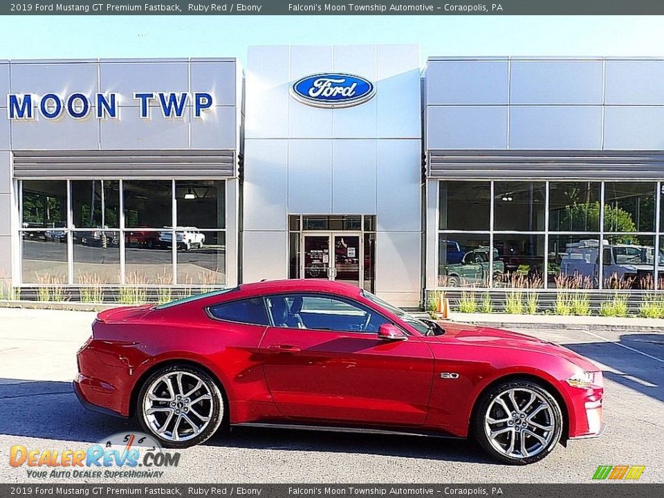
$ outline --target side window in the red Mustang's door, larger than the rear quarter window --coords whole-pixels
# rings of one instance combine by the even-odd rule
[[[377,333],[387,318],[360,303],[328,295],[268,297],[273,323],[291,329]]]

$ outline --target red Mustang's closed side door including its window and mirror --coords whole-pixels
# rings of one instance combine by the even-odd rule
[[[268,298],[274,326],[260,344],[261,363],[282,414],[309,421],[421,425],[433,380],[430,348],[418,337],[386,341],[389,322],[335,296]]]

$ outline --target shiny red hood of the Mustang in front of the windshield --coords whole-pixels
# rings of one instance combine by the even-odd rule
[[[436,338],[443,343],[460,344],[470,347],[493,347],[533,351],[535,353],[544,353],[564,358],[577,367],[587,371],[600,370],[600,368],[593,362],[584,358],[580,354],[571,351],[571,349],[567,349],[566,347],[562,347],[550,341],[535,338],[532,335],[507,331],[504,329],[494,329],[488,326],[454,322],[439,323],[443,329],[445,329],[445,334],[438,335]]]

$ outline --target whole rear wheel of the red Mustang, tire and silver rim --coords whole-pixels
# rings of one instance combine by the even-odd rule
[[[167,448],[207,440],[225,416],[223,394],[205,371],[173,365],[154,372],[138,394],[137,416],[145,432]]]

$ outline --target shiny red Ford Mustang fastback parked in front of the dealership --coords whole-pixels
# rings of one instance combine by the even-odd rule
[[[103,311],[74,390],[165,446],[221,425],[469,437],[506,463],[598,436],[602,372],[551,342],[418,320],[347,284],[243,284]]]

